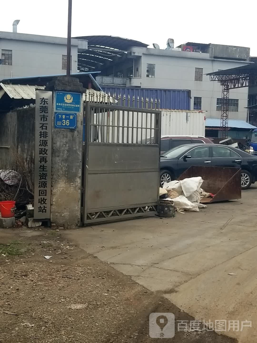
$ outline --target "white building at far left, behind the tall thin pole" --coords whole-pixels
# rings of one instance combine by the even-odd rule
[[[0,80],[22,76],[65,74],[67,39],[0,31]],[[77,72],[78,51],[87,41],[71,40],[71,72]]]

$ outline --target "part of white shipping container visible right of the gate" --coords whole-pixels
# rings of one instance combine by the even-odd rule
[[[206,111],[161,111],[161,135],[205,137]]]

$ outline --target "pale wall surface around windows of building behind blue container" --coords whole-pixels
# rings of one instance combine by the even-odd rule
[[[197,52],[171,51],[147,48],[132,48],[135,52],[135,66],[140,67],[142,59],[142,78],[135,79],[143,88],[173,88],[192,91],[191,109],[194,108],[194,97],[202,98],[201,109],[208,111],[207,118],[220,118],[216,111],[217,98],[221,98],[221,86],[211,82],[209,76],[203,75],[203,81],[195,80],[195,68],[203,68],[203,73],[239,67],[247,62],[231,60],[212,60],[209,54]],[[140,58],[140,56],[142,56]],[[155,78],[146,77],[146,64],[155,64]],[[133,80],[133,79],[132,79]],[[230,112],[230,119],[246,120],[248,87],[230,91],[231,99],[238,99],[238,112]]]

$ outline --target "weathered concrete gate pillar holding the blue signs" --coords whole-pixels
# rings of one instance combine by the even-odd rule
[[[52,106],[51,223],[73,228],[81,224],[83,85],[73,77],[60,76],[49,82]],[[81,93],[81,112],[76,129],[54,128],[56,91]]]

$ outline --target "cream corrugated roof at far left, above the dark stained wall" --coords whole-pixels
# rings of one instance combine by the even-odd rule
[[[0,83],[2,89],[7,93],[10,98],[14,99],[36,99],[35,88],[45,89],[45,86],[29,86],[29,85],[5,85]]]

